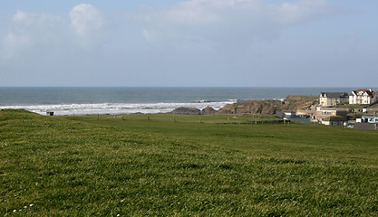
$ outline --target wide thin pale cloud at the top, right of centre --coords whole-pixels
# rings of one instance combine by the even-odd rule
[[[168,8],[145,9],[137,19],[146,26],[142,32],[150,43],[190,37],[233,45],[256,38],[269,40],[286,26],[322,19],[336,11],[325,0],[279,5],[261,0],[189,0]]]

